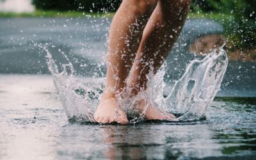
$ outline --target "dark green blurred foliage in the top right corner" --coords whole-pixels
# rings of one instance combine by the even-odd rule
[[[228,43],[234,48],[256,46],[256,0],[193,0],[191,12],[220,13]]]

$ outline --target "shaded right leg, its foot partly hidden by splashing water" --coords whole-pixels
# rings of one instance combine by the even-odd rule
[[[148,21],[136,54],[127,87],[132,95],[137,95],[146,89],[147,74],[150,68],[154,73],[163,65],[164,60],[172,49],[173,44],[184,26],[189,12],[189,0],[159,0],[156,9]],[[146,102],[140,102],[138,108],[143,108]],[[167,114],[167,113],[164,113]],[[173,115],[168,115],[170,118]],[[168,119],[163,112],[156,108],[148,108],[145,112],[147,119]]]

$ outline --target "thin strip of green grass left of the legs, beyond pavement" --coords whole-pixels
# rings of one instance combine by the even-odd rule
[[[79,11],[36,10],[32,13],[0,12],[0,17],[113,17],[114,13],[90,13]]]

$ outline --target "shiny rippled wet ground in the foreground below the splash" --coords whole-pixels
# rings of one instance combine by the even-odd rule
[[[29,78],[20,76],[27,82]],[[33,81],[38,78],[51,81],[51,77],[41,76]],[[252,103],[217,99],[209,107],[206,120],[198,122],[97,125],[68,122],[49,86],[42,86],[45,92],[31,88],[24,87],[20,93],[14,90],[0,93],[5,96],[0,103],[0,159],[255,159],[256,156],[255,99]],[[12,96],[16,100],[10,99]]]

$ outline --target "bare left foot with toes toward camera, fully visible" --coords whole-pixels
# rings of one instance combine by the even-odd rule
[[[109,124],[112,122],[127,124],[129,121],[126,114],[120,106],[116,105],[118,104],[116,104],[116,100],[113,98],[102,99],[94,113],[95,121],[102,124]]]

